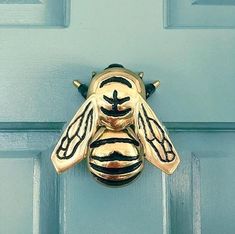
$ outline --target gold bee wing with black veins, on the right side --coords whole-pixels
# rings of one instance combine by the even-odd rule
[[[140,96],[135,113],[136,134],[146,159],[167,174],[172,174],[180,159],[160,121]]]

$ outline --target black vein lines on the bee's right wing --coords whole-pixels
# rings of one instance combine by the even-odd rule
[[[172,144],[169,142],[169,140],[165,137],[165,132],[163,131],[163,129],[161,128],[161,126],[158,124],[158,122],[155,120],[155,119],[152,119],[148,116],[143,104],[141,105],[142,107],[142,110],[143,110],[143,113],[144,113],[144,117],[145,117],[145,120],[147,122],[147,126],[145,126],[145,123],[144,123],[144,119],[143,119],[143,116],[141,114],[139,114],[138,116],[138,121],[141,122],[142,126],[143,126],[143,129],[144,129],[144,134],[145,134],[145,139],[146,141],[151,145],[151,147],[154,149],[154,151],[156,152],[158,158],[160,159],[160,161],[162,162],[172,162],[174,159],[175,159],[175,153],[173,152],[173,146]],[[161,131],[161,134],[162,134],[162,140],[159,140],[157,138],[157,136],[155,135],[154,131],[153,131],[153,127],[152,127],[152,124],[156,125],[157,128]],[[153,136],[151,139],[148,138],[148,134],[147,134],[147,130],[146,130],[146,127],[148,127],[148,129],[150,130],[151,132],[151,136]],[[163,159],[158,151],[158,149],[156,148],[156,146],[154,145],[153,141],[156,140],[162,147],[162,149],[164,150],[164,153],[165,153],[165,156],[166,156],[166,159]],[[166,151],[165,149],[165,146],[164,146],[164,143],[165,141],[168,143],[168,145],[170,146],[170,151]],[[168,159],[168,154],[172,154],[174,157],[172,159]]]

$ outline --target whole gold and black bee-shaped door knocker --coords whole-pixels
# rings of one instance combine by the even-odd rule
[[[56,145],[51,159],[63,172],[87,157],[95,178],[107,185],[124,185],[143,169],[144,158],[167,174],[179,156],[158,118],[146,103],[159,81],[144,85],[119,64],[93,73],[89,88],[74,81],[86,101]]]

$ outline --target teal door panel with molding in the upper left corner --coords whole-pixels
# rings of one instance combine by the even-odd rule
[[[0,0],[0,27],[68,27],[70,0]]]

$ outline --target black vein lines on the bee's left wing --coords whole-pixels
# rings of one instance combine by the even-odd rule
[[[66,135],[61,139],[61,143],[60,143],[60,146],[58,147],[57,151],[56,151],[56,155],[57,155],[57,158],[59,159],[70,159],[71,157],[73,157],[74,153],[76,152],[77,148],[79,147],[79,145],[81,144],[81,142],[85,139],[86,137],[86,134],[87,134],[87,131],[91,131],[91,127],[92,127],[92,121],[93,121],[93,109],[91,109],[89,111],[89,113],[87,114],[87,117],[86,119],[85,118],[85,114],[90,106],[91,102],[89,102],[87,104],[87,106],[85,107],[84,111],[81,113],[81,115],[79,115],[71,124],[70,126],[68,127],[67,131],[66,131]],[[79,126],[78,126],[78,129],[76,131],[76,133],[69,137],[69,131],[71,129],[71,127],[77,122],[77,121],[80,121],[79,123]],[[78,133],[80,132],[80,128],[82,126],[82,123],[85,121],[85,127],[84,127],[84,131],[82,133],[81,136],[78,135]],[[89,121],[90,121],[90,129],[88,129],[88,125],[89,125]],[[72,152],[67,155],[67,151],[68,151],[68,148],[69,148],[69,145],[70,143],[73,141],[73,139],[75,137],[78,137],[79,138],[79,141],[77,142],[77,144],[74,146]],[[63,147],[63,144],[65,141],[68,141],[67,144],[66,144],[66,148]],[[59,153],[60,151],[64,151],[63,152],[63,156],[59,156]]]

